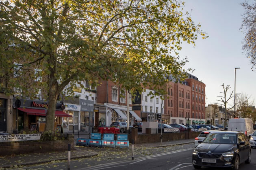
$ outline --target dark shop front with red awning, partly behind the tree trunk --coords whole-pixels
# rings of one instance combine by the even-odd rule
[[[20,107],[16,108],[16,100],[17,99],[15,98],[13,99],[13,130],[15,131],[15,129],[17,129],[18,132],[22,130],[35,130],[33,127],[36,125],[37,120],[39,120],[39,132],[43,132],[46,126],[46,108],[48,106],[48,102],[20,99]],[[70,117],[68,114],[63,112],[64,108],[65,106],[63,104],[56,104],[54,129],[57,124],[62,123],[62,117]]]

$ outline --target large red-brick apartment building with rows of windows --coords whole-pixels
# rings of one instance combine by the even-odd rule
[[[205,84],[188,74],[182,83],[169,81],[166,86],[164,114],[170,116],[170,123],[204,123]],[[172,80],[171,75],[168,77]]]

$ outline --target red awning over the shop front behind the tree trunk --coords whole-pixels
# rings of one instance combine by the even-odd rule
[[[26,112],[27,115],[37,115],[37,116],[46,116],[46,110],[42,109],[34,109],[34,108],[18,108],[22,112]],[[72,115],[68,115],[63,111],[56,110],[55,116],[58,117],[72,117]]]

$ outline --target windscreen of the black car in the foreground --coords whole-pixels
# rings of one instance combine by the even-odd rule
[[[236,144],[236,134],[210,133],[202,143]]]

